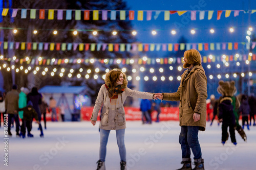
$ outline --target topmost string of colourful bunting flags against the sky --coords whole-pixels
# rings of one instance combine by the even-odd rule
[[[48,19],[58,19],[62,20],[63,19],[63,11],[66,11],[66,20],[81,20],[81,15],[83,13],[83,19],[84,20],[90,20],[90,12],[92,11],[93,17],[91,19],[93,20],[99,20],[99,14],[101,14],[101,19],[102,20],[108,20],[108,10],[76,10],[76,9],[69,9],[69,10],[59,10],[59,9],[11,9],[11,8],[2,8],[2,13],[1,16],[7,16],[8,13],[10,13],[11,17],[14,18],[17,16],[17,13],[20,11],[20,17],[21,18],[27,18],[27,11],[30,12],[30,19],[45,19],[45,13],[48,13]],[[38,13],[36,11],[39,11]],[[57,17],[54,17],[54,11],[57,11]],[[72,18],[72,11],[75,12],[74,18]],[[153,10],[154,11],[154,10]],[[191,20],[196,20],[196,14],[199,11],[199,19],[202,20],[205,17],[205,12],[208,12],[208,20],[212,19],[212,15],[215,12],[214,10],[189,10],[190,12],[190,19]],[[229,17],[231,12],[234,12],[234,17],[239,16],[240,11],[247,13],[247,14],[253,14],[256,12],[256,9],[253,10],[217,10],[217,20],[221,18],[222,12],[225,12],[225,17]],[[146,20],[151,20],[152,19],[152,11],[142,11],[138,10],[137,11],[137,20],[143,20],[143,12],[146,12]],[[169,20],[170,14],[175,14],[177,13],[179,16],[183,15],[184,13],[188,11],[177,11],[177,10],[169,10],[169,11],[164,11],[164,10],[155,10],[155,15],[154,19],[157,19],[158,16],[160,15],[161,12],[164,12],[164,20]],[[110,20],[134,20],[135,18],[135,11],[126,11],[126,10],[111,10],[110,11]],[[117,13],[119,13],[119,18],[117,18]],[[126,18],[126,13],[129,13],[129,17]],[[39,16],[36,16],[36,14],[39,14]]]

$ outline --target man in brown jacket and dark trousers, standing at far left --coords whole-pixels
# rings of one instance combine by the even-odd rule
[[[16,135],[19,136],[19,119],[18,119],[18,99],[19,93],[17,92],[17,86],[13,85],[12,90],[6,94],[5,108],[8,114],[8,135],[12,136],[11,133],[11,120],[14,118],[16,125]]]

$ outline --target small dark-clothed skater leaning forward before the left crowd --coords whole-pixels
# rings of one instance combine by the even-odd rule
[[[33,108],[33,103],[31,101],[28,102],[27,107],[24,108],[20,108],[18,109],[19,111],[23,111],[23,121],[22,121],[22,129],[21,129],[21,136],[23,138],[25,138],[26,135],[26,128],[28,131],[28,137],[34,137],[33,134],[31,134],[31,122],[33,120],[33,117],[36,119],[36,123],[40,126],[40,122],[38,121],[38,116],[37,116],[37,112],[35,111],[35,109]],[[40,126],[41,127],[41,126]],[[43,137],[44,134],[42,133],[41,130],[41,134],[40,137]]]

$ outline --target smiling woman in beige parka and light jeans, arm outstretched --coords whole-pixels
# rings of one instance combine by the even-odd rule
[[[91,123],[95,126],[101,104],[103,103],[100,120],[100,158],[97,162],[97,170],[105,169],[106,144],[108,143],[110,130],[116,130],[121,169],[126,169],[126,149],[124,145],[126,123],[123,103],[127,96],[141,99],[156,99],[154,95],[153,93],[127,88],[126,75],[120,69],[113,69],[106,74],[105,84],[99,90],[91,117]]]

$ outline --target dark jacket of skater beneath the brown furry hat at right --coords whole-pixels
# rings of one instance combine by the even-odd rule
[[[236,125],[231,98],[224,97],[220,99],[218,118],[222,119],[222,124],[224,125]]]

